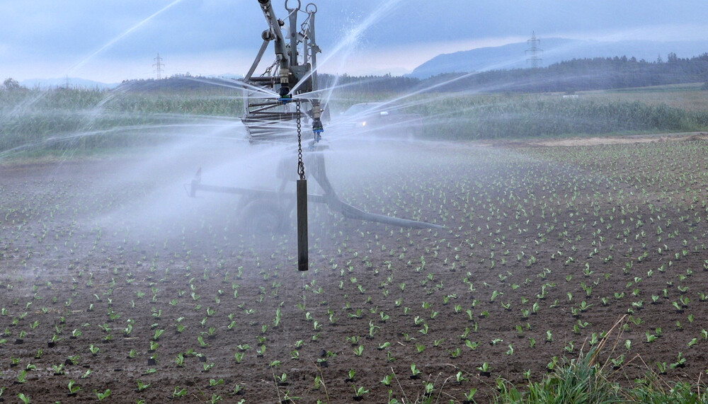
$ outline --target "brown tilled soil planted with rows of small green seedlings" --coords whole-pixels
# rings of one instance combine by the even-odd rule
[[[0,168],[0,400],[94,402],[110,389],[108,403],[346,403],[362,387],[363,402],[415,403],[432,383],[440,402],[470,388],[485,402],[498,378],[537,381],[603,332],[612,379],[631,386],[680,352],[662,377],[696,381],[708,345],[702,160],[568,142],[330,156],[343,200],[447,228],[313,204],[305,273],[292,230],[243,236],[235,198],[185,195],[209,159]],[[537,147],[573,144],[600,146]],[[686,147],[704,155],[704,142]],[[644,160],[617,159],[635,152]],[[663,182],[649,180],[667,161]]]

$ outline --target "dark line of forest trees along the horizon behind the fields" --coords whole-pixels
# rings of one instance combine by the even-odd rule
[[[660,86],[676,83],[707,83],[708,53],[679,58],[668,54],[666,62],[634,57],[595,57],[572,59],[538,69],[481,71],[468,74],[441,74],[430,79],[406,76],[333,76],[319,75],[320,88],[337,86],[343,93],[408,93],[411,91],[475,92],[568,92],[615,88]],[[23,88],[16,80],[6,79],[0,89]],[[121,84],[124,91],[205,91],[229,93],[228,80],[178,75],[163,80],[130,80]]]

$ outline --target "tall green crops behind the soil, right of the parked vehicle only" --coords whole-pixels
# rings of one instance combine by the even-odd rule
[[[705,111],[560,96],[458,96],[420,103],[411,110],[428,117],[428,137],[455,140],[692,132],[708,127]]]

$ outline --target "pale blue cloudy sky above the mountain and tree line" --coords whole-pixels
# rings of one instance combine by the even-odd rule
[[[532,31],[708,40],[705,0],[313,2],[320,70],[332,74],[405,74],[440,53],[524,42]],[[285,1],[273,7],[285,19]],[[18,81],[151,79],[158,53],[163,76],[245,74],[267,28],[258,0],[0,0],[0,16],[0,79]],[[271,48],[264,66],[272,60]]]

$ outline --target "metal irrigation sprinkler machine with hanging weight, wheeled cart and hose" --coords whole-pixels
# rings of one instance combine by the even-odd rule
[[[245,187],[225,187],[203,184],[201,168],[189,185],[191,197],[198,191],[224,192],[240,195],[239,214],[247,232],[255,234],[278,233],[287,229],[292,212],[297,217],[298,270],[308,267],[307,257],[307,203],[324,203],[329,209],[341,212],[347,219],[375,221],[412,229],[442,229],[442,226],[423,221],[372,214],[342,202],[327,178],[321,144],[324,134],[321,105],[317,87],[317,54],[321,52],[316,42],[315,15],[317,6],[285,1],[287,25],[275,16],[270,0],[258,0],[268,28],[261,33],[263,45],[258,50],[251,68],[240,80],[244,88],[244,108],[241,121],[252,143],[297,141],[297,155],[283,156],[278,164],[280,186],[275,190]],[[295,5],[290,7],[290,5]],[[304,21],[298,25],[298,17]],[[260,76],[254,76],[269,45],[275,47],[275,62]],[[312,126],[312,135],[303,139],[304,126]],[[303,143],[306,143],[303,145]],[[296,161],[297,160],[297,164]],[[307,164],[306,164],[307,163]],[[307,192],[309,175],[321,187],[322,195]],[[295,169],[292,169],[295,168]],[[288,184],[296,181],[295,193]]]

